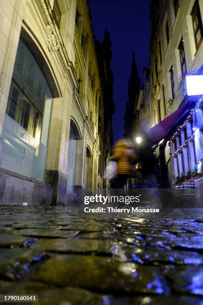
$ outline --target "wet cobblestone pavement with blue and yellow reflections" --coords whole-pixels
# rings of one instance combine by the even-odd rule
[[[1,206],[0,294],[51,305],[203,305],[202,214]]]

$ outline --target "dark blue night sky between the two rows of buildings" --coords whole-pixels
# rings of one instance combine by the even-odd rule
[[[96,39],[102,40],[107,28],[112,41],[114,72],[114,141],[123,136],[123,116],[127,99],[132,52],[135,51],[142,82],[143,67],[149,67],[151,0],[89,0]]]

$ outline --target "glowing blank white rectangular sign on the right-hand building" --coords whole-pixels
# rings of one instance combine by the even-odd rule
[[[203,94],[203,75],[186,75],[188,95]]]

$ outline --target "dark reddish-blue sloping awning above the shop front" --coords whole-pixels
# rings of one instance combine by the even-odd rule
[[[166,119],[152,127],[148,132],[151,144],[157,144],[165,139],[172,131],[173,127],[190,111],[193,102],[187,101],[182,104],[176,111],[169,115]]]

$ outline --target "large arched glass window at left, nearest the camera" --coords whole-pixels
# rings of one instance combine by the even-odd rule
[[[2,167],[44,180],[51,105],[43,73],[19,40],[2,131]]]

